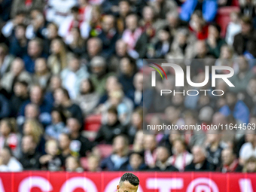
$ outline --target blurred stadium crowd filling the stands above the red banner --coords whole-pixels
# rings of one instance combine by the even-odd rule
[[[142,132],[143,110],[150,124],[256,123],[255,11],[254,0],[1,0],[0,171],[256,172],[255,130]],[[143,92],[142,58],[228,65],[235,87]],[[202,82],[205,63],[190,65]]]

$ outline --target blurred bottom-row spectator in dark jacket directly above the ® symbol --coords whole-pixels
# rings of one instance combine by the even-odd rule
[[[194,160],[189,165],[185,166],[184,171],[188,172],[203,172],[213,171],[211,164],[206,160],[206,151],[201,146],[194,146],[192,148]]]

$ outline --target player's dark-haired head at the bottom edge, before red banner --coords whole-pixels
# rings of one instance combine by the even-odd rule
[[[136,192],[139,187],[139,178],[133,173],[126,172],[120,178],[117,192]]]

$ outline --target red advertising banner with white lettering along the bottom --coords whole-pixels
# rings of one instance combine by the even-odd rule
[[[256,192],[256,174],[134,172],[139,192]],[[114,192],[123,172],[0,173],[0,192]]]

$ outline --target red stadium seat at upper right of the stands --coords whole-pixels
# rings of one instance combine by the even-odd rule
[[[221,26],[221,37],[223,38],[226,35],[227,24],[230,22],[230,13],[233,11],[239,12],[239,8],[232,6],[218,9],[216,22]]]

